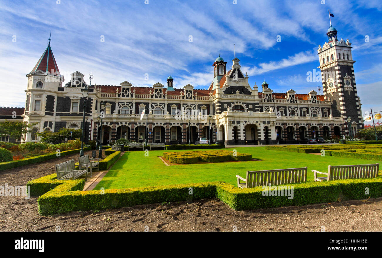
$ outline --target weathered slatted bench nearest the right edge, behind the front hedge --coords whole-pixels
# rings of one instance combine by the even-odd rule
[[[323,180],[340,180],[351,178],[374,178],[378,176],[379,163],[365,165],[345,165],[345,166],[328,166],[328,172],[319,172],[313,170],[314,181],[322,182]],[[326,175],[326,177],[317,177],[317,174]]]

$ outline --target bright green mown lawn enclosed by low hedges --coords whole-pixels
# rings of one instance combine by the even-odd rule
[[[226,148],[225,150],[233,150]],[[255,159],[262,161],[241,161],[208,164],[187,164],[166,166],[158,158],[162,151],[126,152],[114,164],[95,190],[122,189],[142,186],[175,185],[180,183],[200,183],[223,181],[237,185],[236,175],[245,178],[247,170],[282,169],[292,167],[308,167],[308,181],[313,181],[312,169],[327,172],[328,165],[353,165],[381,163],[365,159],[350,159],[333,156],[321,157],[316,154],[294,153],[287,151],[264,150],[264,147],[236,148],[240,153],[251,153]],[[189,151],[189,150],[185,150]]]

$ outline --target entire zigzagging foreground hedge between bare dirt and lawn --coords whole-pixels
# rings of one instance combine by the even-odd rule
[[[382,177],[306,182],[293,185],[293,199],[288,196],[263,196],[263,187],[241,189],[223,182],[206,182],[129,189],[82,191],[84,180],[55,180],[49,175],[28,182],[31,195],[38,199],[39,213],[52,215],[72,211],[105,210],[160,202],[192,201],[218,197],[234,210],[274,208],[367,199],[382,196]],[[49,188],[53,190],[49,191]],[[192,194],[190,194],[192,188]],[[369,188],[369,194],[365,194]]]

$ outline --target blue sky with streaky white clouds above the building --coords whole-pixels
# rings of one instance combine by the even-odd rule
[[[381,111],[382,1],[335,0],[0,0],[0,106],[24,107],[26,74],[51,47],[65,84],[79,71],[92,84],[187,84],[207,89],[216,57],[227,70],[234,47],[249,84],[274,92],[318,91],[318,45],[329,13],[337,37],[352,43],[362,111]],[[89,83],[89,79],[86,80]]]

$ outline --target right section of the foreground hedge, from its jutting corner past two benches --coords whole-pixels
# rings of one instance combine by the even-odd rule
[[[365,188],[369,194],[365,194]],[[217,197],[234,210],[275,208],[291,205],[308,205],[337,202],[346,199],[367,199],[382,196],[382,177],[347,179],[326,182],[306,182],[293,185],[293,199],[287,196],[263,196],[263,188],[236,188],[233,185],[217,185]]]

